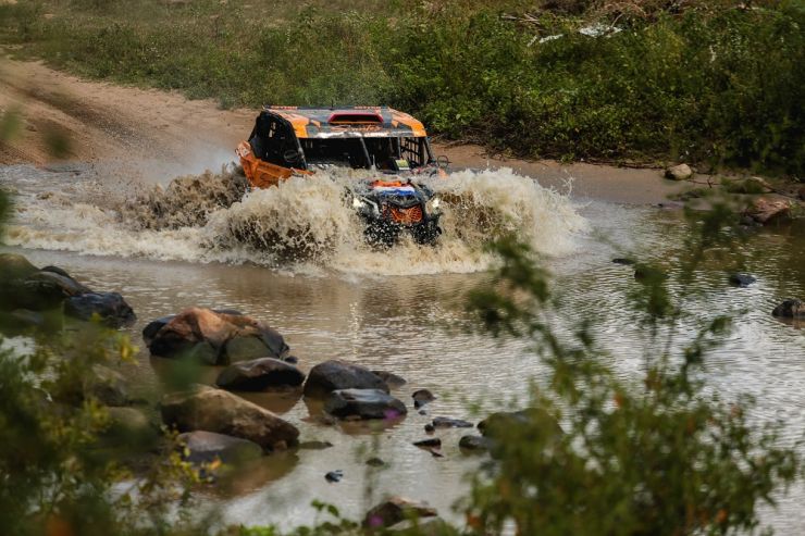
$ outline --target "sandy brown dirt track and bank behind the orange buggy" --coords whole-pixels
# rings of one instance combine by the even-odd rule
[[[48,140],[59,135],[70,140],[65,160],[157,182],[232,160],[256,115],[177,92],[87,82],[41,63],[0,59],[0,112],[9,110],[20,113],[22,124],[11,144],[0,145],[0,164],[50,164]],[[573,194],[585,198],[657,203],[681,189],[656,170],[488,158],[473,146],[435,150],[457,166],[512,167],[560,189],[572,177]]]

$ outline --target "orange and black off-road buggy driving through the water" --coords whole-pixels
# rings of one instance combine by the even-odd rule
[[[433,157],[422,123],[406,113],[385,107],[267,107],[237,154],[255,188],[333,167],[369,170],[371,178],[350,185],[345,200],[373,245],[391,246],[404,232],[433,244],[442,233],[439,199],[417,179],[445,175],[448,162]]]

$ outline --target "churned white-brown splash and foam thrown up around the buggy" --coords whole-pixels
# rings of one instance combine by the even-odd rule
[[[493,259],[484,245],[507,233],[541,253],[565,255],[587,227],[567,196],[530,177],[511,170],[462,171],[422,180],[443,199],[444,233],[435,246],[403,236],[393,248],[375,250],[346,202],[348,189],[368,176],[343,171],[293,177],[244,194],[244,178],[223,170],[127,200],[99,194],[89,180],[58,190],[23,187],[3,241],[98,255],[255,262],[292,273],[407,275],[485,270]]]

